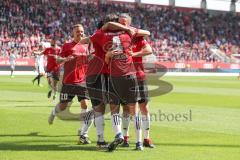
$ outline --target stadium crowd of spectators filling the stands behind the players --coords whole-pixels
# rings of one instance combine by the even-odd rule
[[[66,1],[4,0],[0,2],[0,56],[14,52],[29,57],[40,41],[49,36],[61,43],[71,35],[71,26],[82,23],[90,35],[99,20],[108,13],[128,12],[133,26],[147,29],[155,54],[164,61],[217,61],[211,46],[226,55],[240,54],[240,16],[212,15],[202,10],[129,7],[128,4],[82,4]]]

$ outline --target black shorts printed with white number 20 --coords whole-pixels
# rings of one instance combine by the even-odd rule
[[[75,96],[78,97],[79,102],[83,99],[89,99],[86,86],[77,84],[63,84],[60,93],[60,103],[71,102]]]

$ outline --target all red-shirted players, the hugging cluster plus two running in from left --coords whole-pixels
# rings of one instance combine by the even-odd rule
[[[144,39],[150,33],[130,25],[131,17],[127,13],[119,16],[109,14],[98,24],[93,35],[85,37],[83,26],[76,24],[73,26],[71,42],[64,43],[59,49],[56,41],[52,40],[50,48],[36,53],[48,57],[47,73],[54,95],[59,80],[59,66],[63,66],[60,101],[52,110],[48,122],[52,124],[55,116],[71,105],[72,99],[77,96],[82,120],[79,144],[91,143],[88,130],[94,121],[98,148],[113,151],[119,144],[129,147],[129,124],[132,119],[136,150],[154,148],[149,137],[149,97],[142,63],[143,56],[152,54],[150,45]],[[40,77],[39,74],[34,81]],[[51,90],[48,95],[51,96]],[[88,99],[92,105],[89,111]],[[104,139],[107,104],[110,105],[112,126],[116,134],[109,144]],[[119,113],[120,106],[123,109],[122,116]]]

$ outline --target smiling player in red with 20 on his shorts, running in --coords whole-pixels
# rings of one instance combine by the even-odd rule
[[[57,61],[64,63],[63,86],[60,93],[60,102],[49,116],[49,124],[53,123],[56,113],[66,109],[77,96],[82,113],[87,111],[86,99],[88,98],[86,89],[86,69],[87,53],[86,46],[79,43],[84,36],[84,29],[81,24],[73,26],[73,41],[65,43]],[[87,112],[84,116],[84,123],[81,128],[79,144],[89,144],[88,130],[92,124],[92,112]]]

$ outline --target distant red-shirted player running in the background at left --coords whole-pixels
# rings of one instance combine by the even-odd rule
[[[47,79],[50,86],[50,91],[48,92],[48,98],[51,97],[53,90],[53,99],[56,98],[57,83],[59,81],[59,64],[56,62],[56,56],[59,56],[61,48],[57,46],[56,40],[51,39],[51,47],[46,48],[43,54],[47,57]]]

